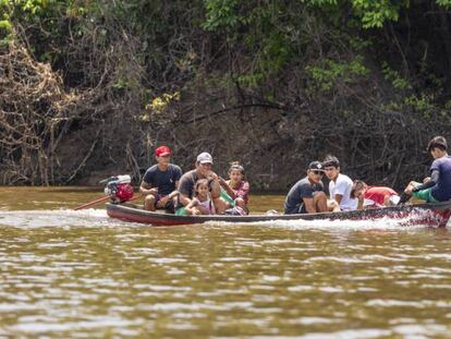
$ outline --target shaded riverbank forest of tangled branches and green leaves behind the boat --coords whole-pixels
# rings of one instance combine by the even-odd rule
[[[254,189],[400,189],[451,137],[451,0],[0,0],[0,184],[139,182],[166,144]]]

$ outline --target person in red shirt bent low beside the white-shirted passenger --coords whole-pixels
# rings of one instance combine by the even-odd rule
[[[362,180],[354,180],[351,197],[356,199],[356,208],[394,206],[400,201],[398,193],[386,186],[368,186]]]

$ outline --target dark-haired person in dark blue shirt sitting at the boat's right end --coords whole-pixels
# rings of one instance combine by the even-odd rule
[[[451,198],[451,157],[448,155],[448,144],[443,136],[434,137],[427,152],[435,159],[430,166],[430,177],[423,183],[411,181],[401,195],[400,204],[415,196],[427,203],[446,202]]]

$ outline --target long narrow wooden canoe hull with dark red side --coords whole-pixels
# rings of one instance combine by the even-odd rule
[[[107,214],[111,218],[131,222],[148,223],[150,226],[193,225],[209,221],[244,223],[271,220],[377,220],[381,218],[389,218],[399,220],[400,225],[444,227],[451,216],[451,201],[434,204],[402,205],[336,213],[317,213],[304,215],[251,214],[248,216],[176,216],[160,211],[144,210],[141,206],[131,203],[108,203]]]

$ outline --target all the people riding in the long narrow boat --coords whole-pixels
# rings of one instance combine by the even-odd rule
[[[451,198],[451,157],[446,138],[434,137],[427,152],[435,159],[430,175],[422,183],[411,181],[401,194],[388,186],[351,180],[341,172],[340,161],[332,155],[322,161],[312,161],[306,175],[289,191],[284,214],[393,206],[406,203],[412,196],[428,203],[448,201]],[[166,209],[176,215],[248,214],[249,183],[242,165],[232,162],[226,180],[212,171],[214,160],[208,153],[199,154],[195,169],[184,174],[179,166],[170,162],[170,156],[169,147],[158,147],[157,164],[144,174],[139,191],[145,196],[145,209]],[[322,184],[324,175],[329,179],[329,198]]]

